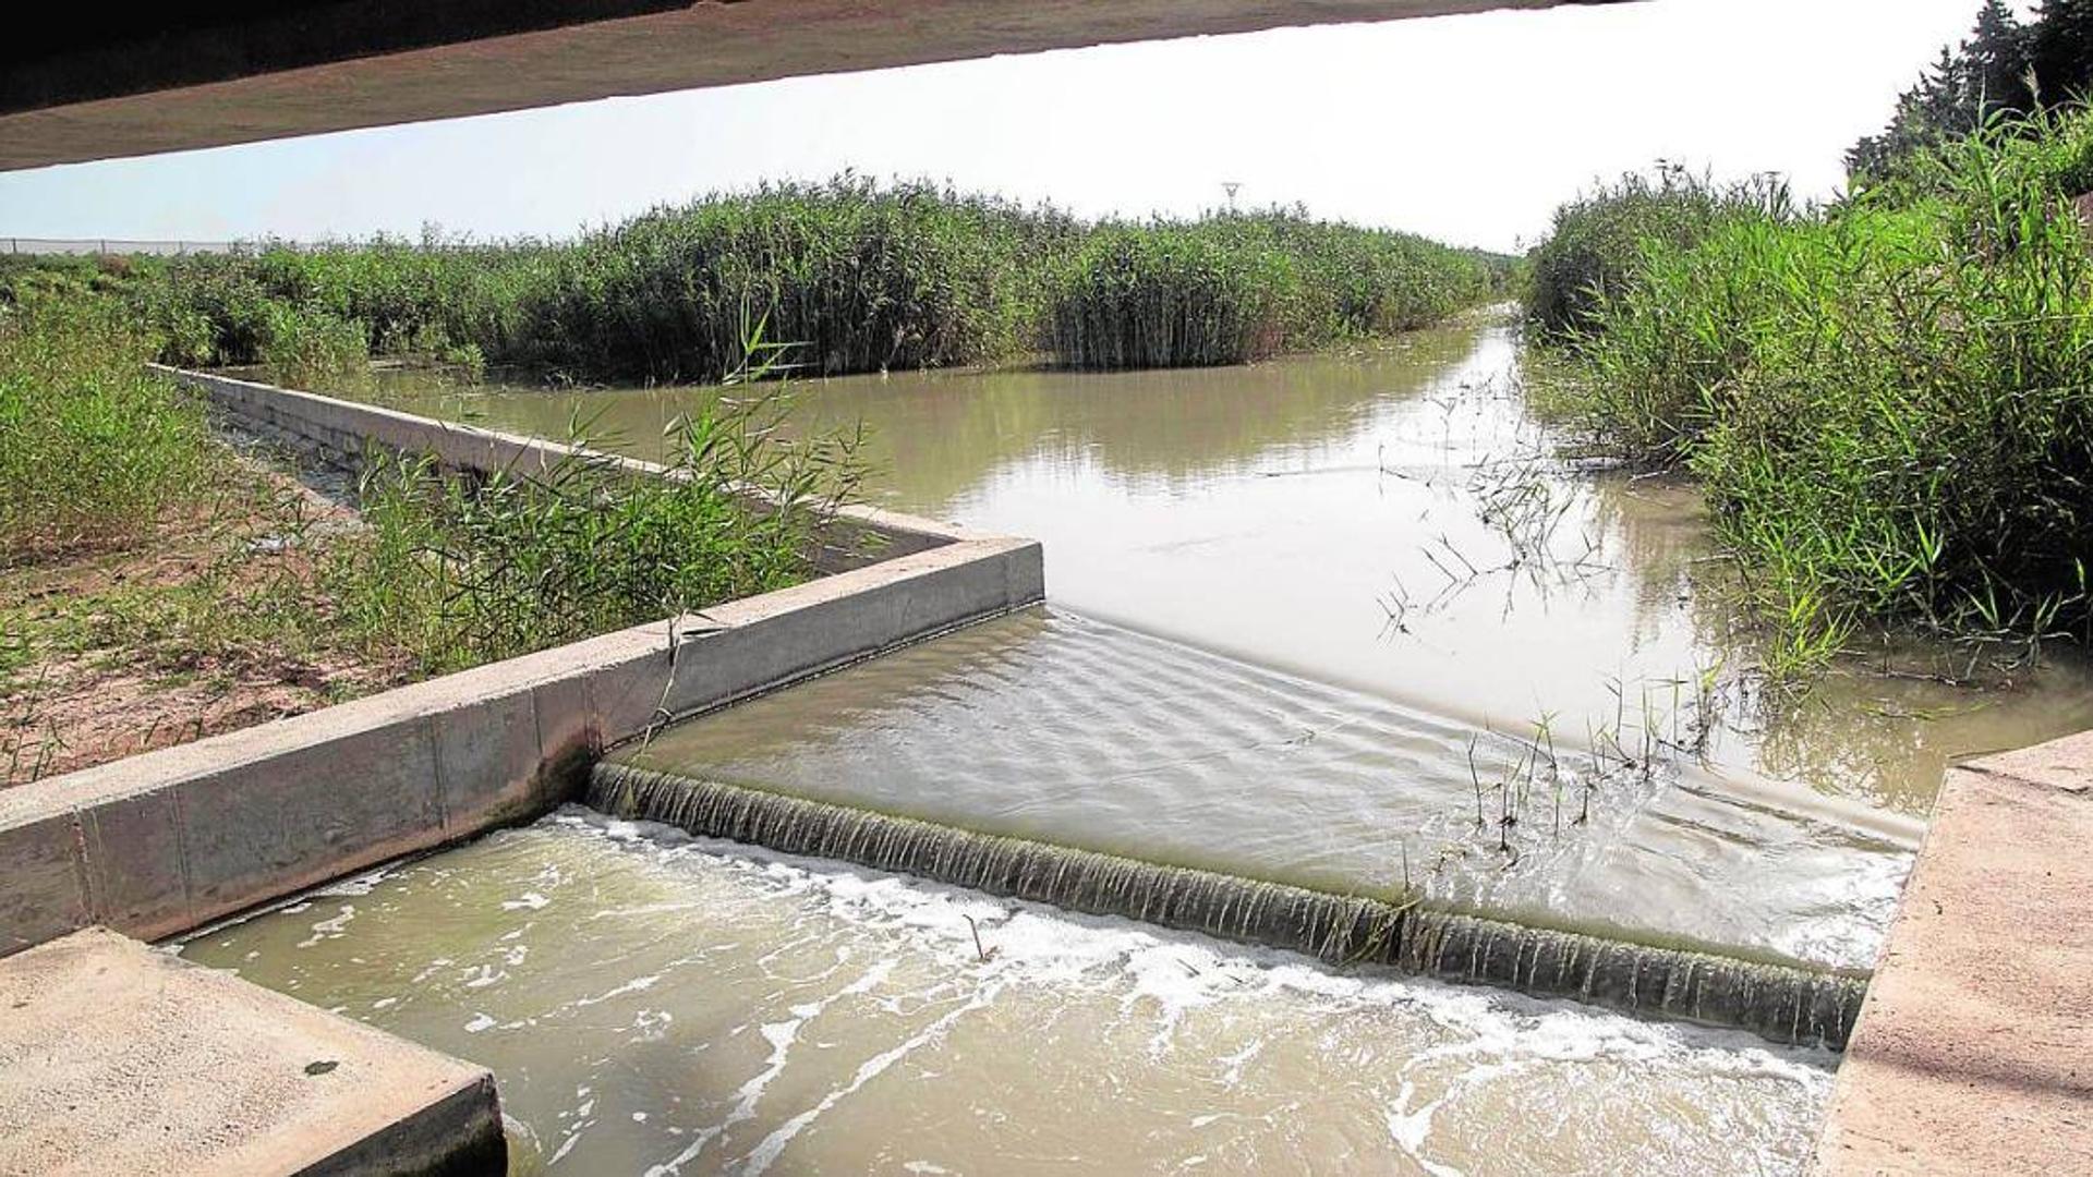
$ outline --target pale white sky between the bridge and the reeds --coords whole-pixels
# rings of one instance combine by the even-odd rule
[[[1513,249],[1681,159],[1829,195],[1978,0],[1653,0],[611,98],[0,174],[0,235],[567,235],[764,178],[931,176],[1082,214],[1302,201]]]

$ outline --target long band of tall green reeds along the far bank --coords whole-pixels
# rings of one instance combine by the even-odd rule
[[[1086,224],[925,182],[772,184],[571,243],[262,245],[15,264],[0,304],[126,299],[176,364],[310,381],[368,356],[584,381],[710,381],[768,318],[820,375],[1026,362],[1241,362],[1419,327],[1496,295],[1509,258],[1302,212]]]

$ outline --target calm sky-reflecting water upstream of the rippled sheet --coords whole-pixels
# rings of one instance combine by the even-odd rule
[[[871,427],[887,505],[1042,538],[1065,607],[1496,731],[1591,743],[1656,712],[1704,723],[1718,769],[1923,815],[1949,758],[2093,727],[2076,664],[1993,691],[1840,674],[1798,708],[1672,716],[1750,662],[1725,595],[1695,591],[1727,565],[1691,488],[1543,461],[1517,358],[1507,327],[1453,327],[1241,369],[810,381],[802,417]],[[540,434],[580,415],[638,454],[716,396],[354,392]]]

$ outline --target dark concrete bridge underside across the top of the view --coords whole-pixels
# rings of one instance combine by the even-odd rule
[[[48,10],[0,170],[1003,52],[1612,0],[565,0]],[[199,8],[190,13],[190,8]],[[666,10],[663,10],[666,8]],[[216,15],[213,15],[216,13]]]

